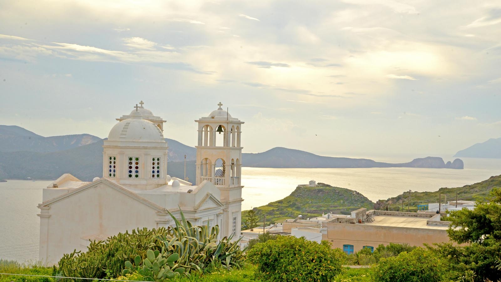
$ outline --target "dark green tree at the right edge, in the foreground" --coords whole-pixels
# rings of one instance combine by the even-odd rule
[[[436,251],[462,275],[473,271],[475,281],[501,277],[501,189],[490,191],[490,202],[478,202],[473,210],[451,212],[449,238],[464,246],[438,244]]]

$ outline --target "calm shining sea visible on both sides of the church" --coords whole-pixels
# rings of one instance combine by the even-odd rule
[[[376,160],[379,161],[379,159]],[[299,184],[308,184],[310,180],[355,190],[376,202],[397,196],[404,191],[423,192],[437,191],[442,187],[461,187],[501,174],[501,159],[461,158],[461,160],[465,164],[463,170],[243,167],[242,209],[259,207],[285,198]],[[31,180],[8,180],[0,183],[0,214],[2,215],[0,216],[0,258],[28,263],[38,259],[40,219],[37,214],[40,210],[37,205],[42,200],[43,188],[51,183],[52,181]]]

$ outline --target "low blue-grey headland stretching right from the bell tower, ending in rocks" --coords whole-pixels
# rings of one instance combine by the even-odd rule
[[[442,158],[426,157],[403,164],[375,162],[368,159],[324,157],[312,153],[276,147],[263,153],[242,154],[244,167],[255,168],[453,168],[462,169],[462,161],[445,166]]]

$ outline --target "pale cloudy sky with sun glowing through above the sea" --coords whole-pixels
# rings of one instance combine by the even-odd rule
[[[196,145],[451,156],[501,137],[499,1],[0,1],[0,124],[107,137],[136,103]],[[409,160],[410,161],[410,160]]]

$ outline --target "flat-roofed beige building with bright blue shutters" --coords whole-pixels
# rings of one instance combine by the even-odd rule
[[[389,243],[422,246],[424,243],[448,242],[450,222],[440,221],[439,214],[409,213],[358,209],[351,215],[327,214],[312,219],[288,219],[283,231],[319,228],[322,240],[347,254],[363,248],[374,250]]]

